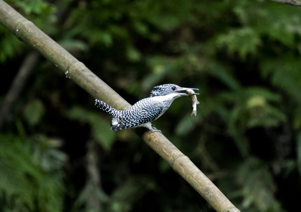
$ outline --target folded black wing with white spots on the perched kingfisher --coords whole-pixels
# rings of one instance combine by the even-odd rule
[[[119,111],[118,124],[112,130],[126,129],[155,120],[162,112],[163,104],[151,98],[138,101],[126,111]]]

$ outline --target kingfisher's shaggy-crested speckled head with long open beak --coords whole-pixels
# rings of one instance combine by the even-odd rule
[[[175,97],[188,96],[187,93],[179,93],[180,91],[186,91],[187,89],[198,90],[197,88],[182,88],[175,84],[164,84],[156,86],[151,90],[150,97],[165,96],[169,94],[175,94]]]

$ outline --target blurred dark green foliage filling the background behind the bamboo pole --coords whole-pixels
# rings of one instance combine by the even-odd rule
[[[300,8],[268,0],[7,2],[131,104],[164,83],[199,88],[196,117],[182,97],[157,128],[240,211],[297,207],[297,195],[287,194],[301,191]],[[28,51],[0,25],[8,73],[0,106]],[[1,129],[0,211],[198,210],[166,162],[129,129],[110,131],[111,116],[64,76],[39,61]],[[91,140],[99,144],[94,166],[85,159]]]

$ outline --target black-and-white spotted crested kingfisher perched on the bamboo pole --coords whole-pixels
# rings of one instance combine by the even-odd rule
[[[143,126],[151,130],[150,133],[160,132],[153,129],[151,122],[162,116],[169,108],[172,101],[180,96],[188,96],[187,93],[180,93],[187,89],[198,90],[196,88],[181,88],[174,84],[156,86],[151,90],[148,98],[142,99],[125,111],[117,111],[103,101],[95,99],[98,108],[113,115],[111,130],[126,129],[131,127]]]

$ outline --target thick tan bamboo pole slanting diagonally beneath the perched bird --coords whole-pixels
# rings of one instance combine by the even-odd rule
[[[92,73],[82,62],[43,33],[32,22],[25,19],[4,1],[0,0],[0,22],[17,38],[34,48],[53,64],[58,66],[68,78],[93,97],[108,103],[117,110],[125,110],[131,105],[106,83]],[[239,212],[223,193],[163,134],[152,133],[138,127],[133,131],[154,151],[166,160],[175,172],[181,175],[218,212]]]

